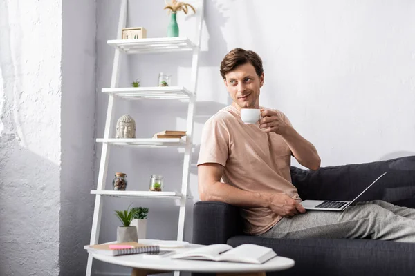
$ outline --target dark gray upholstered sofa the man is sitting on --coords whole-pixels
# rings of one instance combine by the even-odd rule
[[[368,164],[291,168],[302,199],[351,200],[382,172],[382,177],[358,201],[382,199],[415,208],[415,156]],[[415,275],[414,243],[372,239],[268,239],[242,232],[239,208],[222,202],[198,201],[194,206],[193,242],[231,246],[259,244],[295,260],[288,270],[267,275]],[[201,275],[201,274],[194,274]]]

